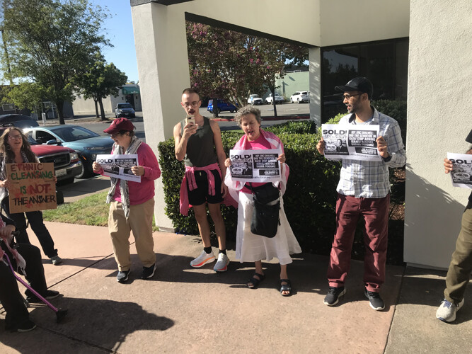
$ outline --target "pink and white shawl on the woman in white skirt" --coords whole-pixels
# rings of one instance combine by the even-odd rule
[[[285,154],[284,144],[282,144],[282,142],[280,141],[280,138],[277,137],[277,135],[275,135],[272,132],[266,132],[262,128],[259,128],[259,131],[260,131],[260,134],[263,135],[263,137],[267,140],[267,142],[269,142],[271,149],[280,149],[282,151],[282,154]],[[239,139],[238,142],[236,142],[233,149],[234,150],[247,150],[248,149],[248,137],[246,136],[246,134],[243,135],[241,139]],[[272,182],[272,184],[275,187],[278,187],[279,184],[282,183],[280,185],[281,187],[280,193],[284,195],[285,190],[287,188],[287,180],[289,179],[290,169],[289,169],[289,165],[287,164],[281,164],[281,166],[282,166],[282,181]],[[226,176],[224,178],[224,184],[228,186],[229,194],[231,195],[231,197],[234,200],[238,201],[239,190],[243,189],[244,183],[233,181],[233,179],[231,178],[231,172],[229,171],[229,169],[226,169]]]

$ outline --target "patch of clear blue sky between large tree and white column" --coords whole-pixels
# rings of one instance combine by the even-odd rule
[[[115,64],[127,74],[128,82],[137,83],[139,77],[129,0],[91,0],[91,2],[98,6],[106,6],[112,16],[103,22],[103,28],[106,38],[113,47],[104,47],[102,54],[108,63]]]

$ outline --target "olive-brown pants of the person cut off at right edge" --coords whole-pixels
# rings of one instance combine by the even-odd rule
[[[444,298],[449,302],[459,303],[464,298],[464,292],[472,271],[472,209],[467,209],[462,215],[462,227],[456,242],[456,251],[452,253],[451,264],[446,276]]]

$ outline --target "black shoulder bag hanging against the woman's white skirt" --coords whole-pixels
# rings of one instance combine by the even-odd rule
[[[260,187],[253,187],[254,210],[251,219],[251,232],[265,237],[274,237],[280,225],[280,192],[272,183],[265,183]],[[269,205],[269,202],[277,202]]]

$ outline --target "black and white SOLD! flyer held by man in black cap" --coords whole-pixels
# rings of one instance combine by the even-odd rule
[[[326,159],[381,161],[376,139],[379,125],[323,124]]]

